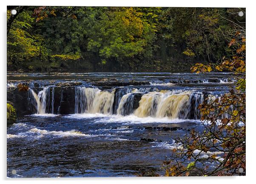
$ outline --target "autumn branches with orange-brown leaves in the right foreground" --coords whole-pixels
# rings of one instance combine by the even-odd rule
[[[228,37],[231,58],[223,57],[215,64],[198,63],[191,72],[234,72],[236,88],[220,96],[208,95],[199,105],[201,125],[176,140],[179,144],[172,158],[163,164],[165,176],[245,175],[245,31]],[[199,126],[203,132],[198,131]]]

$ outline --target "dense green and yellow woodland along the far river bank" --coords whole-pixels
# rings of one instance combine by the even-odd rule
[[[245,27],[237,8],[7,9],[8,71],[188,72],[231,57],[225,34]]]

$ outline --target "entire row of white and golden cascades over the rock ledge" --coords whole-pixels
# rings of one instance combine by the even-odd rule
[[[59,101],[63,101],[63,89]],[[42,91],[30,96],[31,104],[37,114],[54,114],[53,86],[44,87]],[[137,117],[169,117],[171,119],[198,119],[197,107],[204,97],[201,92],[182,90],[159,90],[157,88],[117,88],[102,91],[98,88],[77,86],[74,88],[74,113],[134,114]],[[57,103],[57,102],[56,102]],[[60,106],[55,112],[60,113]]]

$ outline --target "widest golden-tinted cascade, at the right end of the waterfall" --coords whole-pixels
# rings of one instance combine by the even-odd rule
[[[197,107],[202,103],[202,99],[202,93],[189,91],[149,92],[142,96],[134,115],[137,117],[197,119],[194,114],[199,114]],[[193,112],[193,116],[191,112]]]

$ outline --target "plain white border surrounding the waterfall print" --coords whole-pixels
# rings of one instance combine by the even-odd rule
[[[10,179],[6,178],[6,6],[7,5],[26,5],[26,6],[165,6],[165,7],[242,7],[246,8],[246,46],[247,46],[247,149],[246,149],[246,175],[245,177],[161,177],[161,178],[23,178],[23,179]],[[255,13],[256,7],[253,6],[253,1],[245,1],[245,0],[179,0],[179,1],[171,1],[171,0],[93,0],[93,1],[70,1],[70,0],[61,0],[61,1],[53,1],[53,0],[43,0],[43,1],[31,1],[31,0],[9,0],[9,1],[1,1],[1,25],[0,25],[0,51],[1,51],[1,60],[0,60],[0,76],[3,85],[3,89],[1,92],[1,145],[2,149],[0,151],[1,154],[1,162],[0,162],[0,179],[5,183],[19,183],[19,184],[27,184],[27,183],[37,183],[44,184],[45,182],[50,183],[105,183],[109,182],[112,184],[131,184],[131,183],[141,183],[145,182],[147,184],[150,183],[206,183],[206,184],[216,184],[220,181],[225,183],[249,183],[253,180],[253,176],[255,175],[256,165],[255,165],[255,156],[254,153],[255,148],[255,134],[256,134],[256,121],[255,121],[255,80],[256,80],[256,34],[255,34]],[[255,180],[255,179],[254,179]]]

